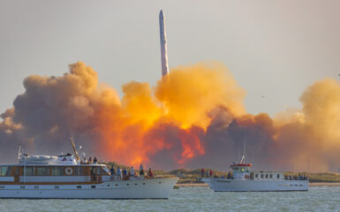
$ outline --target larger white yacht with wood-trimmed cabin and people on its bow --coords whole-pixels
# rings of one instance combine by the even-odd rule
[[[168,199],[178,180],[111,176],[106,165],[80,163],[75,153],[19,154],[19,163],[0,165],[0,198]]]

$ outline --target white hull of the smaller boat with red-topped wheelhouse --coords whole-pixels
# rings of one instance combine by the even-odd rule
[[[203,178],[215,192],[284,192],[308,191],[308,180],[238,180]]]

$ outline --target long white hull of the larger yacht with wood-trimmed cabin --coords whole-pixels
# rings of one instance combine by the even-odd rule
[[[0,185],[0,198],[168,199],[177,180],[178,178],[150,178],[84,185]]]

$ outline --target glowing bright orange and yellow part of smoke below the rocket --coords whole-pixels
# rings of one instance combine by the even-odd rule
[[[196,64],[172,69],[168,79],[159,80],[155,87],[136,81],[123,85],[121,102],[115,92],[102,90],[99,95],[105,95],[106,104],[95,115],[102,135],[101,152],[121,163],[148,162],[148,155],[173,146],[150,133],[162,124],[163,130],[169,125],[178,128],[173,139],[180,143],[180,153],[175,161],[185,163],[195,155],[204,155],[200,138],[190,128],[205,129],[211,120],[208,111],[215,105],[228,106],[236,114],[245,112],[245,92],[229,75],[221,64]]]

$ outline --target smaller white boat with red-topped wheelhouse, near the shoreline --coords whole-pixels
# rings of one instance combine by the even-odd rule
[[[232,174],[227,178],[202,178],[215,192],[283,192],[308,191],[308,178],[286,177],[282,171],[250,171],[251,163],[230,165]]]

